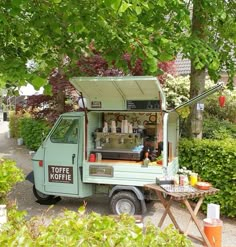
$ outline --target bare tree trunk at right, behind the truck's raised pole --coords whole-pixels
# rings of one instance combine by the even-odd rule
[[[192,38],[206,40],[206,26],[202,3],[204,0],[193,1],[193,17],[192,17]],[[191,75],[190,75],[190,98],[193,98],[204,91],[206,72],[205,68],[196,69],[194,67],[195,57],[191,59]],[[200,102],[199,102],[200,103]],[[190,138],[202,138],[203,127],[203,111],[198,110],[197,104],[191,106],[190,115],[187,121],[187,136]]]

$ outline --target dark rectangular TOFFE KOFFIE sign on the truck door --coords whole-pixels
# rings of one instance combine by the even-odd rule
[[[52,183],[73,184],[73,167],[48,166],[48,181]]]

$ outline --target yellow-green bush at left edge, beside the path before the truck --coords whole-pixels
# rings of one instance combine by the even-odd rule
[[[0,159],[0,203],[5,203],[8,192],[17,182],[23,180],[24,174],[14,161]]]

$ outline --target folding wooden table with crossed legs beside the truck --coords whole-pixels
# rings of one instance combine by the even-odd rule
[[[156,184],[147,184],[144,187],[146,189],[151,189],[151,190],[155,191],[155,193],[157,194],[158,198],[160,199],[162,205],[165,208],[165,211],[164,211],[164,213],[160,219],[160,222],[158,224],[158,227],[162,226],[166,216],[169,215],[175,228],[178,229],[180,231],[180,233],[183,233],[186,236],[189,236],[189,237],[194,238],[198,241],[201,241],[202,243],[205,243],[207,247],[211,247],[211,245],[210,245],[203,229],[201,228],[201,225],[199,224],[196,216],[197,216],[198,210],[200,209],[200,207],[202,205],[204,198],[207,195],[216,194],[219,191],[218,189],[216,189],[216,188],[210,188],[209,190],[196,189],[194,192],[168,192]],[[189,203],[189,199],[195,199],[195,198],[197,198],[198,201],[197,201],[197,203],[193,209]],[[180,228],[180,226],[177,223],[173,213],[171,212],[170,208],[171,208],[173,201],[178,201],[178,202],[183,203],[186,206],[187,211],[190,213],[191,217],[190,217],[189,222],[188,222],[186,229],[184,231]],[[189,234],[189,228],[190,228],[190,225],[192,222],[196,225],[202,238],[199,238],[197,236]]]

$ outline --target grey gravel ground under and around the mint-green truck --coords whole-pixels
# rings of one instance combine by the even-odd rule
[[[31,156],[29,150],[24,146],[18,146],[15,139],[8,138],[8,122],[0,121],[0,158],[9,158],[16,161],[16,164],[21,168],[27,176],[32,171]],[[77,198],[62,198],[54,207],[48,210],[47,205],[40,205],[32,192],[32,183],[28,180],[18,183],[9,195],[9,199],[17,202],[19,210],[26,210],[28,218],[32,216],[46,216],[44,219],[50,219],[60,215],[65,208],[76,211],[84,204],[84,200]],[[110,213],[108,198],[105,196],[94,196],[86,198],[87,211],[97,212],[102,215]],[[150,203],[147,205],[148,211],[144,215],[144,225],[151,222],[157,225],[163,212],[163,207],[159,202]],[[189,215],[186,210],[179,204],[174,204],[172,211],[181,225],[187,224]],[[198,214],[198,219],[202,224],[203,219],[206,218],[201,212]],[[223,247],[236,247],[236,219],[221,218],[223,221],[222,229],[222,246]],[[165,225],[170,224],[167,217]],[[191,227],[191,233],[200,236],[195,226]],[[199,242],[193,241],[194,246],[202,246]]]

